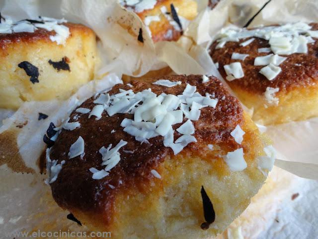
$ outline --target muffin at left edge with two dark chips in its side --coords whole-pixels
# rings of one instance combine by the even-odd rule
[[[88,27],[40,17],[0,24],[0,108],[64,100],[93,78],[96,36]]]

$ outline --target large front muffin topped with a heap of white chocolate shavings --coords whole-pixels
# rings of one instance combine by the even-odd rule
[[[112,238],[215,237],[275,157],[239,101],[202,75],[116,85],[44,138],[57,204]]]

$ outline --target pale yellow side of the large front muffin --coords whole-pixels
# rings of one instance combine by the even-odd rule
[[[111,232],[112,238],[214,238],[245,210],[266,179],[257,168],[257,157],[264,155],[263,147],[270,140],[246,114],[241,127],[247,162],[243,171],[231,171],[220,156],[227,153],[228,145],[215,144],[214,150],[199,145],[195,153],[184,150],[166,157],[156,168],[161,179],[120,191],[114,211],[109,212],[110,224],[105,225],[103,214],[70,211],[90,230]],[[200,228],[204,222],[202,185],[216,213],[208,230]]]

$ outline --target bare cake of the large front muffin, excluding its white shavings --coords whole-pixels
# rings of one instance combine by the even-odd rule
[[[161,136],[149,139],[149,144],[141,144],[123,132],[121,121],[132,115],[108,117],[105,112],[99,120],[80,116],[77,119],[80,127],[62,130],[51,148],[52,160],[66,161],[57,180],[51,184],[53,197],[60,207],[72,212],[92,230],[111,231],[116,238],[182,238],[185,235],[210,238],[224,231],[247,207],[266,178],[257,168],[256,160],[257,156],[264,155],[266,139],[219,80],[211,77],[208,83],[202,84],[202,76],[197,75],[164,79],[182,84],[168,88],[150,81],[133,81],[132,88],[117,85],[109,94],[118,93],[119,89],[132,89],[136,93],[151,88],[156,94],[178,95],[186,83],[196,86],[202,95],[215,93],[219,99],[217,107],[202,108],[199,120],[193,121],[193,135],[198,142],[188,144],[179,154],[173,155],[169,147],[164,147]],[[79,107],[92,109],[92,101],[88,99]],[[73,112],[70,118],[76,115]],[[230,135],[238,124],[245,131],[241,144]],[[113,129],[115,132],[111,133]],[[79,156],[69,159],[70,146],[79,135],[85,142],[85,154],[82,159]],[[175,138],[178,135],[175,131]],[[100,147],[116,145],[121,139],[128,144],[119,150],[119,163],[108,176],[92,179],[88,169],[102,169]],[[214,145],[213,150],[208,149],[208,144]],[[232,172],[222,155],[240,147],[244,150],[247,168]],[[152,169],[159,172],[161,179],[154,177]],[[206,187],[217,215],[214,226],[207,231],[200,228],[204,220],[201,185]]]

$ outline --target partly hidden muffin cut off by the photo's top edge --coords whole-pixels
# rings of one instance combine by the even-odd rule
[[[176,41],[197,12],[195,0],[120,0],[145,23],[154,42]]]

